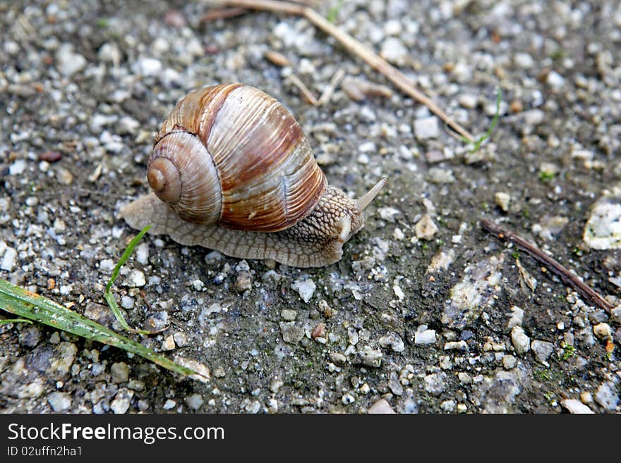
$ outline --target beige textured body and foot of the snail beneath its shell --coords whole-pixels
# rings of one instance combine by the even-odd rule
[[[273,259],[294,267],[334,264],[343,255],[344,242],[364,225],[356,200],[334,187],[327,188],[310,216],[275,233],[184,221],[152,193],[121,209],[121,217],[131,228],[151,225],[150,234],[169,235],[181,245],[217,249],[241,259]]]

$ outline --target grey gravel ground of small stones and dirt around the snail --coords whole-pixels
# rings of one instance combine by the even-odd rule
[[[478,226],[516,230],[617,304],[619,3],[343,3],[339,27],[471,132],[489,127],[499,86],[491,140],[469,152],[299,18],[205,22],[200,1],[0,2],[0,277],[100,323],[111,324],[104,285],[135,235],[118,211],[147,192],[152,135],[191,89],[238,81],[272,94],[352,195],[390,177],[326,268],[145,237],[117,300],[133,326],[169,326],[142,342],[207,364],[209,383],[8,324],[2,412],[620,411],[619,309],[591,307]],[[319,108],[289,79],[320,94],[339,69],[347,79]],[[367,84],[386,88],[360,99]]]

